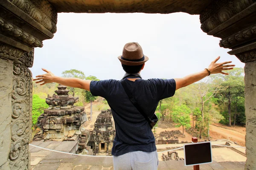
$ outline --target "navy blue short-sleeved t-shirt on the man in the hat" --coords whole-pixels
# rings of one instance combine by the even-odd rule
[[[125,83],[137,103],[149,117],[154,115],[158,102],[175,94],[174,79],[125,79]],[[90,92],[108,101],[116,127],[112,155],[120,156],[133,151],[157,150],[149,123],[134,107],[118,80],[92,81]]]

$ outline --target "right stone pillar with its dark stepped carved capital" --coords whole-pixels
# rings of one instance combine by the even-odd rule
[[[256,0],[214,0],[200,14],[201,29],[220,37],[245,63],[246,170],[256,169]]]

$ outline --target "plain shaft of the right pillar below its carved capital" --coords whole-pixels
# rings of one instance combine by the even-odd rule
[[[256,170],[256,61],[247,62],[245,71],[246,170]]]

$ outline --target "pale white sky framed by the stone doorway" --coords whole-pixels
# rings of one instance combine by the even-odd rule
[[[173,14],[75,14],[59,13],[57,32],[35,48],[33,77],[41,68],[61,76],[70,69],[98,79],[122,79],[125,72],[117,59],[127,42],[138,42],[149,58],[143,79],[184,77],[218,62],[233,61],[244,67],[230,49],[219,47],[220,38],[201,30],[199,15]]]

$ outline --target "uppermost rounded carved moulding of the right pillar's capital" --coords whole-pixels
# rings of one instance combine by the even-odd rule
[[[201,29],[209,32],[216,26],[229,20],[251,4],[254,0],[218,0],[212,1],[209,8],[200,14]]]

